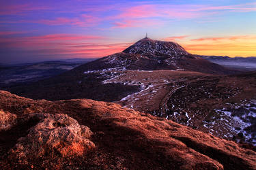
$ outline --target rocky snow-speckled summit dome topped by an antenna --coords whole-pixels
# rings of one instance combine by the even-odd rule
[[[145,37],[123,52],[129,54],[156,55],[156,56],[184,56],[188,52],[182,46],[171,41],[158,41]]]

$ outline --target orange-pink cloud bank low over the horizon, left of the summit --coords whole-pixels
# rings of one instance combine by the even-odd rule
[[[78,56],[102,57],[122,52],[130,43],[102,44],[105,37],[95,35],[53,34],[33,37],[0,37],[0,46],[4,51],[20,52],[27,56]],[[98,41],[97,43],[93,43]]]

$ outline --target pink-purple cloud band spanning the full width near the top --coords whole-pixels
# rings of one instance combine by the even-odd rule
[[[74,9],[73,9],[74,8]],[[105,4],[100,7],[92,5],[90,7],[81,7],[79,5],[70,5],[70,10],[63,10],[60,6],[44,5],[2,5],[0,7],[0,16],[3,15],[24,15],[27,12],[38,12],[51,10],[58,14],[56,18],[38,18],[38,20],[20,19],[20,20],[2,20],[1,23],[38,23],[51,26],[72,25],[75,27],[94,27],[102,22],[113,24],[111,28],[125,29],[129,27],[139,27],[136,23],[138,19],[147,22],[141,23],[146,26],[152,26],[157,22],[170,22],[170,20],[186,20],[193,18],[205,18],[220,12],[254,12],[256,3],[241,3],[238,5],[162,5],[160,3],[145,2]],[[115,11],[115,12],[113,12]],[[75,16],[61,16],[63,13],[75,14]],[[154,24],[152,24],[154,20]]]

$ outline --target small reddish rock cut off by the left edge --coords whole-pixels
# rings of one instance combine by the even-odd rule
[[[6,131],[16,124],[17,116],[0,110],[0,131]]]

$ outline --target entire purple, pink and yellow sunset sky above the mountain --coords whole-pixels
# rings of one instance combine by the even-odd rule
[[[256,56],[256,1],[0,0],[0,63],[99,58],[145,37]]]

